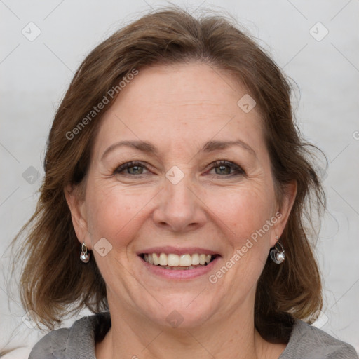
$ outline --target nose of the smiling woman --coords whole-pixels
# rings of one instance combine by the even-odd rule
[[[156,225],[177,233],[203,226],[207,216],[200,192],[198,185],[193,183],[189,175],[184,175],[177,184],[166,178],[153,214]]]

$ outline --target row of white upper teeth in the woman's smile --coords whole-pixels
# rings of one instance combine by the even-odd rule
[[[174,255],[172,253],[166,255],[161,253],[147,253],[144,255],[144,260],[151,264],[158,266],[196,266],[198,264],[204,265],[205,263],[210,263],[212,255],[198,255],[194,253],[193,255]]]

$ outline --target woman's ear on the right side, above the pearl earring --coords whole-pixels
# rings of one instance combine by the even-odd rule
[[[295,197],[297,195],[297,182],[293,181],[290,184],[287,184],[283,190],[283,196],[281,198],[280,204],[277,206],[276,215],[277,218],[276,224],[273,226],[273,235],[271,236],[271,246],[273,247],[278,238],[282,235],[285,225],[287,224],[290,211],[294,205]]]

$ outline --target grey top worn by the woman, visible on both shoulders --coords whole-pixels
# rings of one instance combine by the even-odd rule
[[[46,334],[32,348],[29,359],[96,359],[95,342],[109,327],[109,312],[83,317],[70,328]],[[358,355],[353,346],[296,320],[287,348],[278,359],[358,359]]]

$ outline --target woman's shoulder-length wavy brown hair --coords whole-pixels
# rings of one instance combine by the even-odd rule
[[[79,260],[80,245],[65,199],[67,184],[82,184],[100,119],[116,99],[86,126],[79,123],[133,69],[201,61],[238,79],[255,98],[265,125],[278,200],[286,184],[297,196],[281,241],[283,264],[266,261],[257,285],[255,326],[272,342],[287,342],[293,318],[311,322],[322,307],[321,281],[307,226],[311,204],[317,213],[325,195],[309,161],[311,145],[299,135],[290,103],[291,88],[278,66],[231,16],[202,15],[170,6],[144,15],[98,45],[83,61],[57,109],[47,143],[45,177],[31,230],[18,258],[26,259],[20,294],[26,309],[53,328],[65,314],[88,307],[107,310],[104,280],[93,259]],[[69,133],[76,137],[69,139]],[[71,137],[74,137],[71,135]],[[18,238],[18,236],[16,238]],[[15,239],[16,239],[15,238]]]

